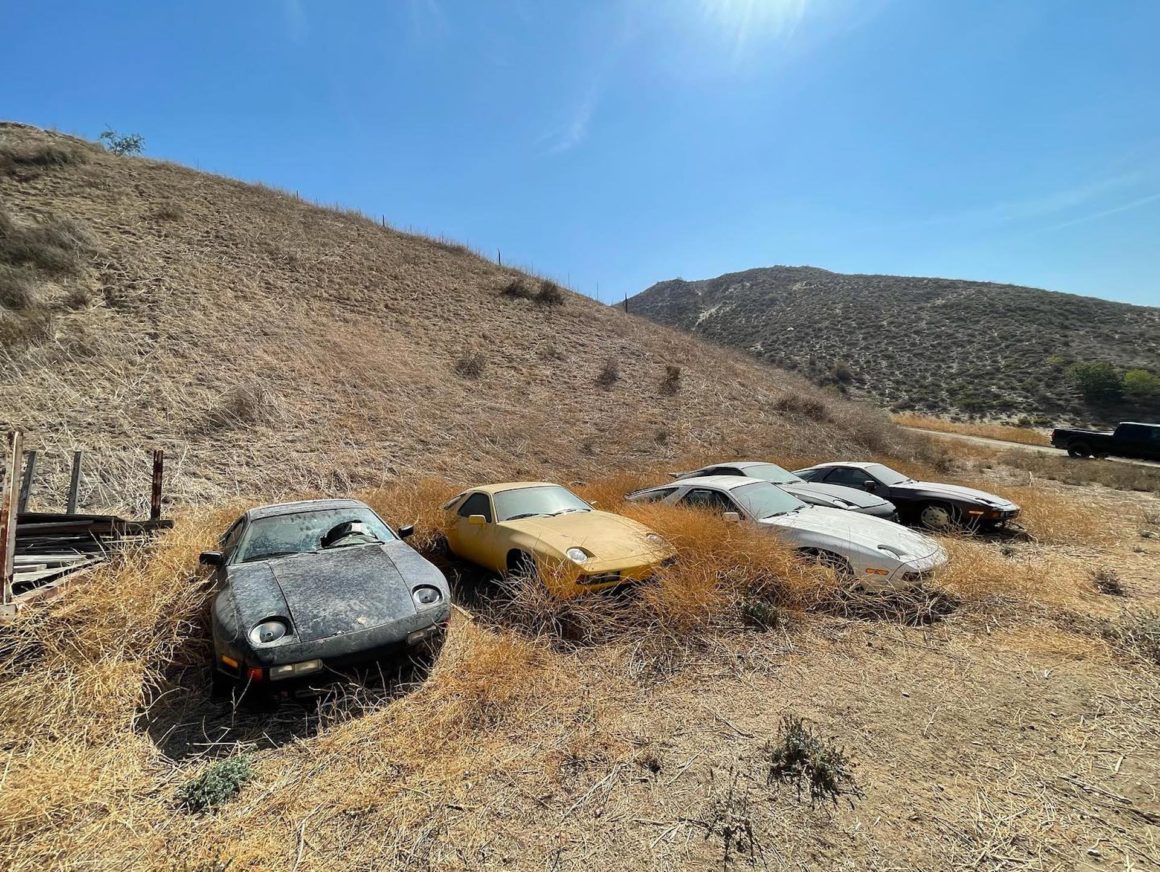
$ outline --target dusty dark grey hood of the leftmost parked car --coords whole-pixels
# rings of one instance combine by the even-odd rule
[[[403,542],[360,545],[231,567],[242,632],[288,617],[299,641],[383,626],[415,613],[418,584],[449,598],[443,574]]]

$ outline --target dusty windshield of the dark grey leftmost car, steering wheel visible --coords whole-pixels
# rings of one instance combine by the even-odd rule
[[[321,551],[324,537],[332,531],[335,532],[327,542],[327,547],[364,545],[396,538],[391,529],[370,509],[296,511],[252,522],[238,548],[237,562]]]

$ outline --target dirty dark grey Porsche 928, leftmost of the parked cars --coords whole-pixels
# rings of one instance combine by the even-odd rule
[[[451,613],[447,580],[356,500],[263,506],[201,562],[213,567],[215,678],[267,695],[362,661],[429,660]]]

